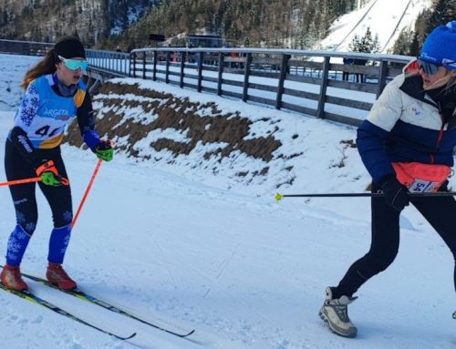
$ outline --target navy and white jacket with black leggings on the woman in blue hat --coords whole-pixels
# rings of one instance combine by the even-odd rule
[[[453,166],[456,146],[456,86],[425,91],[420,75],[396,77],[358,128],[358,151],[372,176],[372,192],[395,177],[392,162]],[[447,190],[446,184],[440,191]],[[410,202],[437,231],[456,259],[456,201],[451,196],[410,197]],[[372,198],[372,240],[368,253],[354,262],[333,297],[352,296],[399,250],[399,214],[382,197]],[[454,272],[456,290],[456,269]]]

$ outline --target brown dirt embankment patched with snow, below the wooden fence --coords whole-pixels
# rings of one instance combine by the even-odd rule
[[[273,159],[275,149],[282,145],[273,135],[258,138],[250,135],[248,139],[244,139],[249,135],[252,121],[243,118],[239,112],[223,114],[215,103],[191,102],[188,98],[175,98],[170,94],[140,88],[138,85],[114,83],[103,85],[93,99],[98,133],[108,135],[109,139],[128,139],[118,146],[133,157],[139,155],[135,149],[137,142],[145,139],[153,130],[166,128],[186,130],[186,141],[163,137],[151,141],[150,148],[156,151],[168,149],[176,156],[188,155],[201,141],[203,145],[223,144],[223,147],[217,149],[212,147],[211,151],[204,154],[204,158],[214,155],[223,158],[233,151],[241,151],[250,157],[268,162]],[[131,113],[132,110],[135,110],[135,113]],[[71,145],[82,146],[77,122],[69,128],[67,141]],[[267,173],[267,167],[259,173]]]

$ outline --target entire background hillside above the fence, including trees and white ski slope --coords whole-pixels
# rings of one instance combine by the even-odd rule
[[[78,35],[88,46],[130,50],[150,46],[152,33],[171,46],[182,45],[181,36],[212,34],[230,46],[345,51],[369,28],[379,36],[380,52],[415,55],[412,42],[420,45],[452,18],[455,1],[0,0],[0,37],[52,42]],[[385,30],[385,22],[395,26]]]

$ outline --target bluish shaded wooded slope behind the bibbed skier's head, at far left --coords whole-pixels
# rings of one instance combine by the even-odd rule
[[[0,37],[53,42],[78,35],[88,45],[119,34],[158,0],[0,0]]]

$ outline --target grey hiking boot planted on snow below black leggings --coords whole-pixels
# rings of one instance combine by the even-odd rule
[[[347,312],[347,305],[356,299],[357,297],[347,297],[346,295],[333,299],[332,290],[327,287],[325,303],[323,303],[318,315],[327,323],[333,333],[343,337],[356,337],[358,329],[351,323]]]

